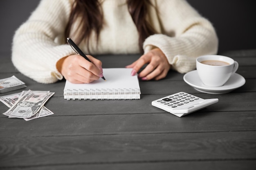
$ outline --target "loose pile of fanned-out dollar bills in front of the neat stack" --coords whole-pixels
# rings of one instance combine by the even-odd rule
[[[52,95],[54,92],[28,90],[0,96],[0,101],[10,108],[3,114],[9,118],[23,118],[26,121],[52,115],[54,113],[44,106]]]

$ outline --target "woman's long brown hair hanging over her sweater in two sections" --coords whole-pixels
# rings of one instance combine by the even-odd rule
[[[139,33],[139,49],[143,53],[143,42],[149,36],[155,33],[155,30],[146,20],[148,13],[149,0],[127,0],[128,11],[132,17],[133,22],[137,27]],[[92,31],[95,31],[97,42],[99,40],[99,34],[103,27],[103,13],[101,4],[98,0],[75,0],[70,13],[70,20],[65,30],[65,36],[69,37],[72,25],[77,18],[83,18],[78,30],[75,41],[80,44],[85,39],[87,48],[89,49],[89,39]],[[89,23],[89,24],[88,24]]]

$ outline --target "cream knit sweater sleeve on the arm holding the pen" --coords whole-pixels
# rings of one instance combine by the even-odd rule
[[[42,0],[17,29],[11,59],[22,74],[39,83],[54,83],[63,78],[56,63],[74,54],[64,37],[70,9],[69,0]]]

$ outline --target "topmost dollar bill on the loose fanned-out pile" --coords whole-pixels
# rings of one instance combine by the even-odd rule
[[[27,91],[12,105],[11,108],[4,112],[6,116],[15,118],[30,118],[34,116],[44,106],[45,102],[54,95],[54,92]]]

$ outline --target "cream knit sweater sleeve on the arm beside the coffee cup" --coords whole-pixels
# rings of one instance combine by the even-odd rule
[[[144,53],[160,48],[173,70],[180,73],[194,70],[196,57],[217,53],[218,38],[207,19],[185,0],[159,1],[157,9],[162,33],[146,38]]]

